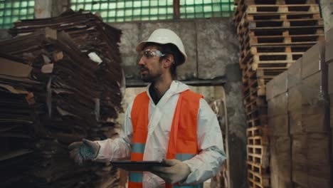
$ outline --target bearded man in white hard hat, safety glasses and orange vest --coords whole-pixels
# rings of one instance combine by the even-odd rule
[[[169,167],[130,172],[129,187],[203,187],[226,155],[216,115],[201,95],[175,80],[176,66],[187,59],[183,43],[160,28],[137,51],[142,80],[150,84],[129,104],[120,137],[74,142],[70,156],[76,162],[164,159]]]

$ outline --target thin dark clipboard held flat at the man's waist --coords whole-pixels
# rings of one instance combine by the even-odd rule
[[[115,167],[125,169],[127,171],[150,171],[152,167],[169,167],[162,163],[162,161],[130,161],[130,160],[122,160],[122,161],[112,161],[111,164]]]

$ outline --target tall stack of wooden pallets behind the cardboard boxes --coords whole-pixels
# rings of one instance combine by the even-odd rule
[[[324,40],[323,21],[314,0],[240,0],[234,23],[248,125],[248,184],[270,187],[265,85]]]

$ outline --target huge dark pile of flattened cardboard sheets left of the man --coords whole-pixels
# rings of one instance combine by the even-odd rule
[[[86,42],[75,43],[51,28],[0,42],[0,140],[5,144],[0,171],[7,172],[0,187],[117,186],[117,169],[110,164],[80,167],[69,158],[70,142],[117,135],[113,120],[121,110],[122,77],[112,73],[117,66],[110,63],[119,54],[116,43],[104,41],[102,46],[115,48],[99,54],[107,49]],[[83,50],[92,46],[102,63]]]

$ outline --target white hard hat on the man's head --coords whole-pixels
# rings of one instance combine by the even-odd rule
[[[142,51],[143,48],[144,48],[144,45],[146,43],[160,43],[160,44],[171,43],[171,44],[174,44],[174,46],[176,46],[179,49],[179,51],[181,52],[181,54],[183,54],[183,56],[184,56],[184,61],[179,62],[177,66],[185,63],[186,60],[187,60],[187,56],[186,56],[186,53],[185,53],[185,48],[184,48],[183,42],[181,42],[181,39],[179,38],[179,36],[177,36],[176,33],[174,33],[174,31],[171,31],[170,29],[159,28],[159,29],[155,30],[149,36],[147,41],[141,41],[137,45],[137,51],[138,52]]]

